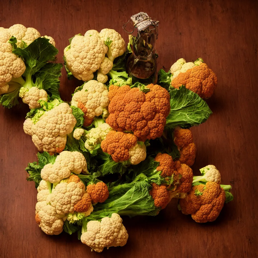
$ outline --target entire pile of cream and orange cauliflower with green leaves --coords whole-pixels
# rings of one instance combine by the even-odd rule
[[[21,97],[29,105],[23,129],[38,160],[26,167],[27,180],[35,182],[35,220],[46,234],[77,232],[102,252],[126,244],[120,216],[156,216],[174,198],[204,223],[233,199],[214,165],[200,176],[191,169],[197,148],[189,128],[212,114],[204,98],[217,83],[201,58],[160,70],[156,85],[133,84],[121,35],[88,30],[64,50],[68,79],[83,81],[67,103],[53,38],[19,24],[0,35],[0,104],[10,108]]]

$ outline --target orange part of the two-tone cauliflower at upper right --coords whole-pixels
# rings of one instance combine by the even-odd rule
[[[185,85],[187,89],[197,93],[201,98],[210,98],[217,85],[217,76],[208,68],[206,63],[200,62],[193,68],[181,72],[171,81],[171,86],[178,88]]]

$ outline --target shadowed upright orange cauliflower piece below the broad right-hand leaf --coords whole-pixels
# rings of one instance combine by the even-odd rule
[[[175,128],[174,142],[180,152],[179,161],[189,167],[192,166],[196,155],[192,132],[189,129]]]

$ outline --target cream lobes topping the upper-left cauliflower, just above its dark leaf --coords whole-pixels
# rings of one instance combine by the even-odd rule
[[[26,28],[22,24],[14,24],[9,28],[10,33],[17,39],[16,45],[18,47],[24,47],[25,42],[29,45],[35,39],[40,37],[40,33],[34,28]]]

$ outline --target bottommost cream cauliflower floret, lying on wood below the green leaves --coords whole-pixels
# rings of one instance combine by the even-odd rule
[[[116,213],[110,218],[104,217],[101,221],[91,220],[83,224],[82,243],[98,253],[102,252],[104,247],[124,246],[127,239],[127,230],[122,224],[121,217]]]

